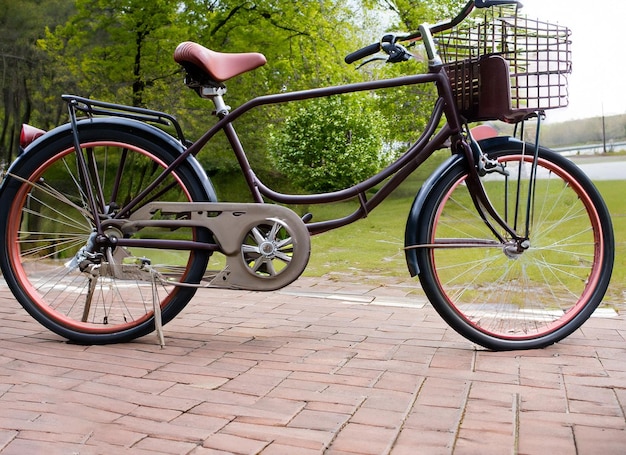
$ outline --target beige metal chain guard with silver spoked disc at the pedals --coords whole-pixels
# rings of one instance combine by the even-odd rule
[[[155,217],[155,215],[158,215]],[[159,219],[160,215],[176,219]],[[309,231],[292,210],[273,204],[151,202],[119,228],[202,227],[212,232],[225,268],[207,287],[272,291],[295,281],[311,253]]]

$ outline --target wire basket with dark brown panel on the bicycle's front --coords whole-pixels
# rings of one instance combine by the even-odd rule
[[[518,122],[567,106],[571,31],[520,16],[516,6],[477,11],[436,37],[461,114]]]

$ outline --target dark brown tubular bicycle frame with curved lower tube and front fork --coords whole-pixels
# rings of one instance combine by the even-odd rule
[[[272,190],[265,185],[254,173],[246,152],[239,140],[239,137],[233,126],[233,122],[241,117],[243,114],[250,110],[266,105],[274,105],[281,103],[288,103],[294,101],[302,101],[312,98],[322,98],[332,95],[341,95],[347,93],[355,93],[360,91],[378,90],[384,88],[401,87],[406,85],[434,83],[437,87],[438,99],[434,104],[430,120],[428,121],[425,130],[421,136],[412,146],[410,146],[396,161],[391,163],[385,169],[375,174],[374,176],[363,180],[362,182],[339,191],[319,194],[285,194]],[[70,109],[71,111],[71,109]],[[445,116],[446,122],[437,131],[441,119]],[[485,212],[495,220],[496,224],[503,227],[514,239],[520,240],[518,234],[504,221],[495,211],[489,199],[484,191],[478,172],[475,166],[474,152],[466,142],[465,138],[461,134],[463,123],[458,114],[455,99],[450,87],[448,76],[443,68],[431,70],[429,73],[417,74],[412,76],[404,76],[393,79],[385,79],[371,82],[361,82],[354,84],[347,84],[342,86],[331,86],[325,88],[317,88],[310,90],[302,90],[295,92],[287,92],[280,94],[264,95],[253,98],[241,106],[237,107],[230,113],[219,116],[218,122],[210,128],[200,139],[192,143],[181,155],[174,160],[162,173],[157,177],[147,188],[144,189],[139,195],[131,200],[125,207],[121,208],[115,218],[121,218],[130,213],[140,202],[159,184],[165,177],[173,172],[177,166],[179,166],[189,155],[197,155],[203,147],[215,136],[219,131],[223,130],[234,152],[234,155],[239,163],[241,171],[243,172],[245,181],[248,185],[250,193],[254,202],[264,203],[264,197],[270,201],[280,204],[294,205],[294,204],[325,204],[338,201],[346,201],[357,198],[359,201],[359,207],[350,215],[343,218],[331,219],[320,222],[307,223],[307,229],[311,235],[319,234],[325,231],[336,229],[338,227],[346,226],[354,221],[364,218],[376,208],[389,194],[395,190],[406,178],[415,171],[426,159],[428,159],[436,150],[448,146],[448,140],[450,140],[450,147],[452,153],[463,154],[467,166],[469,176],[467,184],[470,188],[470,192],[474,199],[474,205],[476,206],[479,214],[485,220],[496,237],[500,240],[501,237],[497,231],[492,227],[491,223],[487,220]],[[75,129],[75,131],[77,131]],[[75,140],[78,143],[77,136]],[[81,155],[79,153],[79,155]],[[79,159],[79,161],[82,161]],[[87,164],[83,163],[79,167],[84,168],[84,175],[87,174]],[[376,185],[386,181],[380,189],[370,198],[367,199],[366,192],[375,187]],[[141,242],[141,240],[135,240],[135,242]],[[119,245],[124,244],[124,239],[119,239]],[[163,241],[164,247],[170,247],[168,241]],[[166,245],[168,244],[168,245]],[[171,245],[174,246],[174,245]],[[185,245],[188,247],[189,245]],[[215,247],[209,247],[208,245],[200,246],[198,249],[215,249]]]

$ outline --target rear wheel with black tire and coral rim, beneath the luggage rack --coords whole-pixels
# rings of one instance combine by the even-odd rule
[[[176,274],[182,282],[197,283],[206,271],[207,252],[107,248],[101,261],[78,264],[85,259],[79,250],[93,240],[95,217],[110,219],[116,207],[139,194],[180,156],[180,144],[167,138],[145,126],[133,127],[132,122],[80,125],[83,155],[93,158],[89,179],[98,199],[97,214],[86,204],[79,184],[83,177],[69,132],[34,144],[12,166],[0,203],[0,238],[5,243],[0,265],[19,303],[51,331],[83,344],[126,342],[154,330],[155,297],[165,324],[195,294],[193,287],[151,281],[147,274]],[[188,160],[144,201],[150,199],[214,202],[215,196]],[[204,229],[191,228],[115,235],[204,242],[212,238]],[[113,263],[118,269],[110,266]],[[148,267],[140,268],[140,263]]]

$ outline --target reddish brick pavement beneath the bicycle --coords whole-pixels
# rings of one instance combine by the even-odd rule
[[[202,290],[165,327],[64,342],[0,285],[0,454],[622,454],[626,318],[486,352],[413,289]]]

